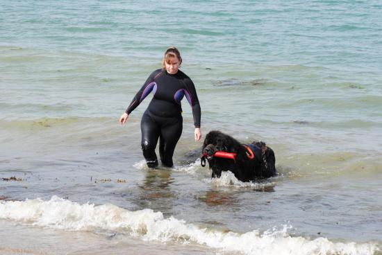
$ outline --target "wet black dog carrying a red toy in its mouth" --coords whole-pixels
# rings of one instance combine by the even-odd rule
[[[263,142],[244,146],[228,134],[211,131],[204,139],[202,153],[201,164],[208,160],[212,177],[231,171],[240,181],[250,182],[276,175],[274,151]]]

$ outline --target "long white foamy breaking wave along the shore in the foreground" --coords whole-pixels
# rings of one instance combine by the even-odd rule
[[[151,209],[128,211],[113,204],[78,204],[60,197],[51,200],[0,201],[0,219],[69,231],[115,231],[143,240],[197,243],[242,254],[374,254],[373,243],[334,243],[326,238],[292,237],[288,227],[261,234],[201,228]]]

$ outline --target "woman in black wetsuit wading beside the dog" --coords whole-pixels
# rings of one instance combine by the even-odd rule
[[[163,68],[153,71],[144,85],[135,95],[126,112],[119,118],[119,123],[124,124],[128,115],[140,105],[150,92],[153,99],[142,116],[142,152],[147,166],[158,166],[156,157],[156,143],[159,138],[160,161],[164,166],[173,165],[172,155],[176,143],[182,134],[183,118],[181,100],[185,96],[192,107],[194,116],[194,138],[199,141],[200,131],[200,105],[197,91],[192,80],[178,68],[182,62],[181,54],[175,47],[169,47],[163,57]]]

